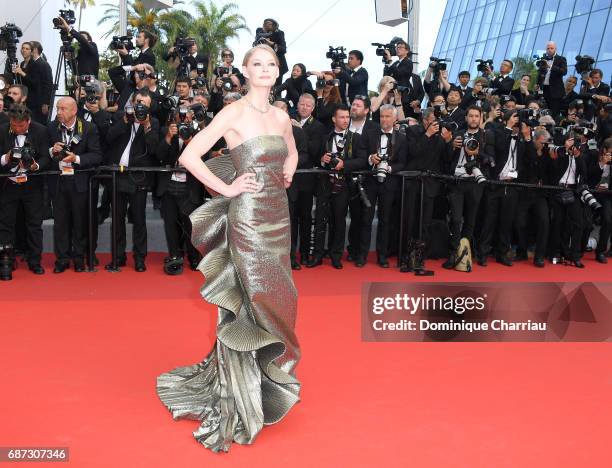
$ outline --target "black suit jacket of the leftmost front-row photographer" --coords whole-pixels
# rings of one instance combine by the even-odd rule
[[[38,170],[44,171],[49,169],[51,165],[51,158],[49,156],[49,137],[47,135],[47,127],[38,122],[31,121],[26,140],[30,142],[32,149],[34,150],[34,160],[38,163]],[[3,124],[0,126],[0,155],[8,153],[15,147],[15,135],[11,131],[9,124]],[[4,174],[10,174],[10,167],[0,166],[0,172]],[[12,184],[6,177],[0,179],[0,187],[4,188],[7,184]],[[43,176],[28,177],[26,182],[30,187],[42,188]],[[0,194],[1,196],[1,194]]]

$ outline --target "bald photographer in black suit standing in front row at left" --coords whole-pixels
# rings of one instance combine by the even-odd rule
[[[102,161],[98,131],[92,122],[77,117],[71,97],[57,101],[57,114],[49,124],[49,155],[60,175],[49,177],[53,203],[54,273],[62,273],[74,262],[74,270],[85,271],[87,249],[87,190],[90,172]],[[71,255],[72,254],[72,255]]]

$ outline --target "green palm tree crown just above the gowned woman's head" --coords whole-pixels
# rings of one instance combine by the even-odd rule
[[[229,39],[238,37],[242,30],[251,32],[244,17],[239,14],[238,5],[226,3],[217,7],[212,0],[197,0],[192,6],[196,10],[195,21],[191,23],[189,34],[198,39],[199,50],[209,59],[209,71]]]

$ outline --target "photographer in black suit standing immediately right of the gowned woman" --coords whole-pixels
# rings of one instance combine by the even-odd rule
[[[315,98],[310,93],[300,96],[297,105],[299,120],[292,121],[299,125],[306,136],[308,147],[308,162],[299,169],[312,169],[319,166],[321,147],[327,136],[325,126],[314,118]],[[289,199],[289,216],[291,217],[291,250],[292,259],[296,259],[300,251],[300,264],[307,265],[310,261],[310,242],[312,238],[312,203],[317,184],[316,174],[295,174],[291,188],[296,194],[295,200]],[[298,242],[299,237],[299,242]],[[298,245],[299,243],[299,245]],[[295,269],[295,268],[294,268]]]

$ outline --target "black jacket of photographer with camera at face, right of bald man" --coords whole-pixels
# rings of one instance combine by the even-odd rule
[[[116,112],[116,120],[108,130],[106,141],[108,151],[106,152],[105,164],[119,164],[121,155],[130,141],[131,123],[125,123],[123,112]],[[129,167],[150,167],[158,166],[156,156],[157,145],[159,143],[159,122],[156,118],[151,119],[151,130],[144,132],[142,125],[139,126],[134,141],[130,147]],[[117,187],[123,192],[133,192],[136,187],[151,187],[153,185],[153,173],[134,173],[128,172],[119,174]]]

